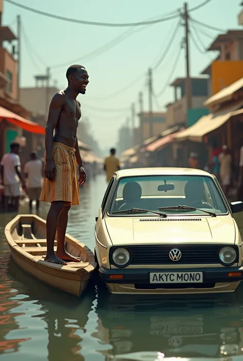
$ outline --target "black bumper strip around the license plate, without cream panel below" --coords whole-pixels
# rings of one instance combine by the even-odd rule
[[[104,267],[99,268],[99,276],[105,283],[118,283],[118,284],[148,284],[150,285],[150,272],[203,272],[203,284],[213,284],[219,282],[237,282],[243,280],[243,267],[220,267],[220,268],[120,268],[120,269],[107,269]],[[229,277],[229,272],[241,272],[240,276]],[[110,275],[123,274],[123,279],[110,279]],[[161,284],[156,284],[161,285]],[[163,283],[163,287],[167,288],[169,283]],[[178,283],[174,283],[174,288]],[[187,283],[183,283],[187,288]]]

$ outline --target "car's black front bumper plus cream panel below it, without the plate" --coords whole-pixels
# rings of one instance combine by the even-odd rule
[[[202,283],[150,283],[150,272],[202,272]],[[229,277],[229,272],[241,272]],[[100,278],[114,294],[200,294],[234,292],[243,280],[243,267],[181,268],[181,269],[106,269],[99,268]],[[110,278],[123,275],[122,279]]]

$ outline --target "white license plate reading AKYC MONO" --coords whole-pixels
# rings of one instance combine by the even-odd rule
[[[151,272],[150,283],[202,283],[202,272]]]

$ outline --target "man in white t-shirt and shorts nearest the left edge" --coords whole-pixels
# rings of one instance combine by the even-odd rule
[[[19,197],[21,195],[19,181],[26,190],[25,180],[21,174],[21,161],[18,156],[19,144],[10,144],[10,153],[3,156],[1,161],[2,183],[4,185],[4,210],[8,210],[9,198],[12,197],[14,202],[14,210],[18,211]]]

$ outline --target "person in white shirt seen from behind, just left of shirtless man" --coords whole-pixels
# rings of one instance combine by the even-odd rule
[[[28,179],[29,209],[32,211],[32,202],[36,201],[36,210],[39,210],[39,196],[42,192],[43,164],[37,159],[36,152],[30,154],[30,160],[25,164],[25,177]]]

